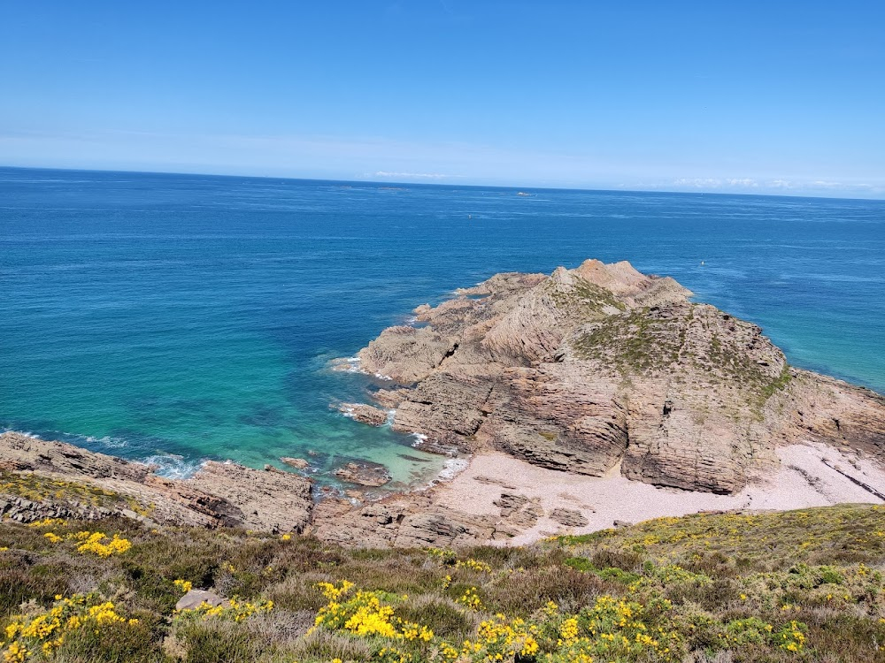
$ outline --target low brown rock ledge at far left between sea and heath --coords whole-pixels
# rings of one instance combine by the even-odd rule
[[[15,479],[8,482],[10,488],[0,489],[0,514],[19,522],[122,515],[179,525],[302,531],[313,508],[310,480],[281,470],[207,462],[190,479],[165,479],[141,463],[18,433],[0,435],[0,470]],[[82,487],[74,486],[70,495],[62,490],[60,496],[53,492],[22,499],[14,485],[33,483],[26,481],[31,476]],[[93,498],[100,503],[89,503]]]

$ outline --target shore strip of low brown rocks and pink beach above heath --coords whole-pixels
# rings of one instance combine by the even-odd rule
[[[312,482],[296,472],[249,469],[209,461],[189,479],[166,479],[150,468],[103,453],[13,433],[0,435],[0,469],[64,479],[118,492],[126,505],[87,509],[89,519],[122,515],[151,524],[304,531],[327,542],[393,547],[529,545],[546,537],[580,535],[663,517],[705,512],[789,511],[850,503],[885,503],[885,465],[849,447],[804,440],[778,446],[779,468],[740,492],[716,494],[662,487],[620,473],[604,476],[545,469],[499,451],[482,451],[452,476],[405,492],[361,499],[316,499]],[[66,464],[65,464],[66,463]],[[865,487],[863,487],[863,484]],[[351,492],[351,496],[352,496]],[[131,500],[156,507],[150,514]],[[206,499],[210,501],[207,502]],[[0,511],[19,522],[65,512],[64,504],[23,503],[7,497]],[[356,502],[356,503],[355,503]],[[291,512],[295,508],[297,515]],[[76,509],[72,513],[76,513]],[[17,515],[19,514],[19,515]],[[373,523],[366,526],[366,516]],[[404,532],[408,534],[404,537]]]

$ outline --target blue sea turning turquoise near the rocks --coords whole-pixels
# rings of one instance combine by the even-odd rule
[[[417,305],[586,258],[670,275],[885,392],[885,202],[0,169],[0,429],[260,467],[442,461],[330,409]],[[702,264],[703,263],[703,264]]]

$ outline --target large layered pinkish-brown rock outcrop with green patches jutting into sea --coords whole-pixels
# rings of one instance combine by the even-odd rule
[[[497,274],[360,351],[395,430],[589,476],[736,492],[781,442],[885,447],[885,399],[792,369],[758,326],[629,263]]]

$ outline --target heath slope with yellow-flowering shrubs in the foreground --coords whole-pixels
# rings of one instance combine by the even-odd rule
[[[706,514],[524,548],[0,523],[4,661],[885,661],[885,507]],[[229,604],[176,612],[212,588]]]

